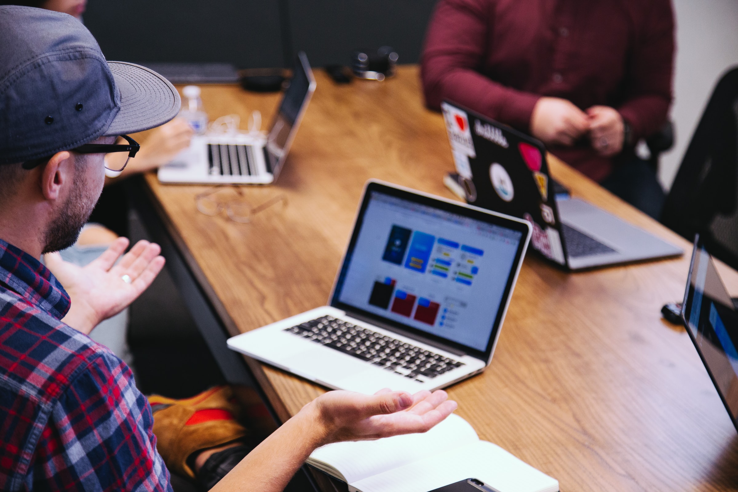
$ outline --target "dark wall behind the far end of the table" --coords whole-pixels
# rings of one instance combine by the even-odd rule
[[[415,63],[435,1],[89,0],[84,21],[109,60],[323,66],[388,44]]]

